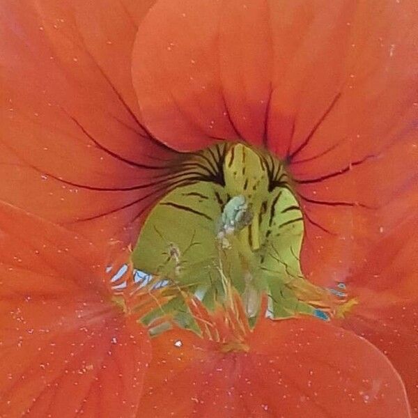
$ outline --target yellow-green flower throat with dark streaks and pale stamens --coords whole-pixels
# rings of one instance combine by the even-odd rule
[[[329,309],[335,295],[302,274],[302,211],[284,164],[244,144],[218,144],[189,155],[185,176],[150,212],[132,254],[134,267],[199,297],[224,303],[235,288],[249,318],[262,293],[276,318]],[[178,174],[177,174],[178,175]],[[181,298],[168,310],[192,326]]]

